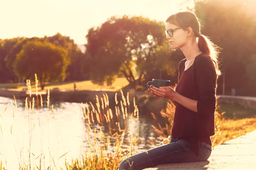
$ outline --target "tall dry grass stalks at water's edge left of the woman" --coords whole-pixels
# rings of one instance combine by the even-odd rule
[[[19,162],[19,169],[20,170],[31,170],[31,169],[38,169],[42,170],[44,157],[42,155],[45,155],[47,153],[42,153],[41,156],[38,156],[36,159],[40,159],[40,164],[32,166],[35,162],[35,159],[32,159],[33,150],[30,148],[30,145],[32,144],[33,139],[33,130],[35,126],[34,120],[33,120],[33,114],[34,109],[40,110],[43,107],[39,103],[38,96],[36,96],[36,99],[31,98],[30,94],[33,88],[31,88],[30,81],[27,80],[27,89],[28,89],[28,97],[25,101],[25,111],[28,113],[28,119],[29,119],[29,157],[28,158],[22,158],[20,156],[20,162]],[[84,118],[84,122],[87,125],[87,138],[86,142],[89,144],[90,148],[87,150],[86,153],[82,155],[82,159],[72,159],[72,160],[66,160],[65,164],[60,167],[56,167],[55,159],[50,154],[50,157],[52,158],[53,165],[52,167],[47,167],[46,169],[67,169],[67,170],[116,170],[119,166],[119,163],[123,159],[127,159],[127,157],[131,154],[137,153],[135,150],[136,143],[137,143],[137,136],[139,134],[134,135],[130,133],[130,127],[129,127],[129,119],[135,119],[135,121],[139,120],[139,110],[137,108],[135,99],[129,99],[129,93],[127,93],[126,96],[122,93],[122,90],[120,90],[122,94],[122,99],[119,101],[117,98],[115,99],[115,110],[111,110],[111,107],[109,105],[108,95],[104,94],[103,97],[99,99],[98,96],[96,96],[96,103],[93,104],[91,102],[89,103],[81,103],[81,110]],[[41,98],[41,97],[40,97]],[[56,119],[54,107],[53,105],[49,105],[50,101],[50,94],[48,91],[47,96],[47,107],[52,110],[53,118]],[[36,106],[35,106],[36,102]],[[130,102],[131,105],[130,106]],[[15,100],[16,103],[16,100]],[[9,105],[9,104],[8,104]],[[6,108],[8,107],[6,106]],[[13,105],[12,105],[13,106]],[[15,113],[13,113],[15,115]],[[13,116],[15,119],[15,116]],[[125,128],[122,128],[120,125],[124,125]],[[97,126],[93,126],[97,125]],[[39,124],[40,126],[40,124]],[[95,127],[94,129],[91,127]],[[97,127],[97,128],[96,128]],[[103,132],[103,128],[108,129],[108,133]],[[10,133],[12,133],[12,127],[10,130]],[[129,135],[129,143],[125,144],[127,147],[123,147],[123,140],[125,134]],[[0,136],[4,137],[4,136]],[[111,138],[115,137],[116,141],[111,142]],[[103,144],[102,144],[103,142]],[[19,148],[16,148],[18,153],[21,153],[22,150]],[[111,152],[112,150],[112,152]],[[68,153],[68,152],[67,152]],[[65,154],[67,154],[65,153]],[[63,156],[65,156],[65,154]],[[63,157],[61,156],[61,157]],[[127,159],[128,160],[128,159]],[[129,162],[130,163],[130,162]],[[5,162],[5,164],[2,164],[2,161],[0,162],[1,169],[5,169],[8,167],[8,164],[12,164],[12,162]],[[49,166],[49,165],[47,165]],[[131,162],[132,166],[132,162]]]

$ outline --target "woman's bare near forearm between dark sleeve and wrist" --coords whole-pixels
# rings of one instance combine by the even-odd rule
[[[188,108],[191,111],[198,112],[197,110],[197,100],[189,99],[185,96],[182,96],[175,92],[175,96],[173,98],[174,102],[179,103],[180,105],[183,105],[185,108]],[[176,106],[176,105],[175,105]]]

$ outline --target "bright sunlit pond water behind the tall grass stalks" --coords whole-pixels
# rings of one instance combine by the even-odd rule
[[[48,108],[27,113],[24,101],[17,100],[17,105],[16,108],[13,99],[0,97],[0,159],[7,162],[7,166],[4,165],[8,169],[16,170],[19,165],[28,164],[29,155],[32,167],[40,164],[40,158],[43,169],[64,167],[65,159],[67,162],[73,158],[81,159],[81,154],[90,150],[87,141],[94,135],[85,133],[88,127],[80,103],[54,103],[55,116]],[[154,135],[150,125],[143,117],[129,119],[131,134],[139,134],[138,152],[156,147],[162,141]],[[99,129],[99,126],[90,125],[90,128]],[[108,128],[102,127],[102,131],[107,136]],[[116,137],[111,137],[110,141],[109,152],[113,152]],[[125,135],[124,148],[129,146],[129,141],[130,137]],[[103,142],[99,141],[99,144],[103,146]]]

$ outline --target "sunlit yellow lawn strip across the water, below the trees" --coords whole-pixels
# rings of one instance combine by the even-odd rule
[[[96,85],[93,84],[90,80],[76,82],[77,90],[91,90],[91,91],[119,91],[123,87],[127,86],[129,82],[126,78],[116,78],[111,86],[106,85]],[[22,90],[26,88],[26,85],[19,85],[19,83],[2,83],[0,88],[6,88],[9,90]],[[32,91],[35,91],[35,83],[31,85]],[[48,82],[45,85],[45,89],[59,88],[63,90],[74,90],[73,82]],[[41,89],[38,86],[38,89]]]

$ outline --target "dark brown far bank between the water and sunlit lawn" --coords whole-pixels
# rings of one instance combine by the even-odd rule
[[[143,91],[134,91],[133,89],[124,90],[122,91],[89,91],[89,90],[78,90],[78,91],[68,91],[68,90],[58,90],[52,89],[50,91],[50,102],[76,102],[76,103],[96,103],[96,95],[102,99],[104,99],[103,95],[108,96],[109,98],[109,105],[115,105],[115,95],[116,99],[122,99],[122,93],[127,98],[127,94],[129,93],[128,97],[130,102],[133,102],[135,99],[137,103],[137,107],[140,110],[140,113],[159,113],[163,108],[166,108],[166,99],[162,98],[154,98],[151,97],[151,94],[145,93]],[[43,100],[47,99],[47,91],[39,91]],[[14,91],[8,89],[0,89],[0,96],[8,97],[8,98],[15,98],[24,100],[28,97],[29,93],[27,91]],[[32,98],[36,98],[35,91],[32,91]],[[39,97],[40,98],[40,97]],[[134,109],[134,105],[131,105],[132,109]],[[115,109],[115,108],[113,108]]]

